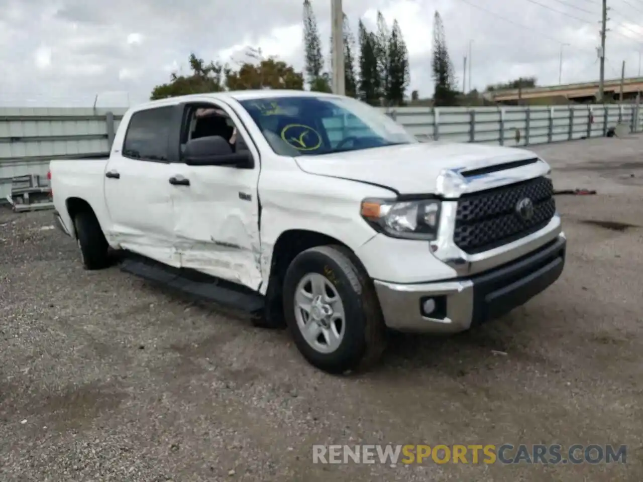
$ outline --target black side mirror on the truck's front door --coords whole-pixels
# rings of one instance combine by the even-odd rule
[[[221,136],[192,139],[185,145],[183,161],[188,166],[236,166],[242,169],[254,167],[248,151],[232,152],[232,147]]]

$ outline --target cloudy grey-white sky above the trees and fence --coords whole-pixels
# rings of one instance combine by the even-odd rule
[[[643,0],[608,4],[606,78],[620,77],[622,61],[626,76],[638,76]],[[312,8],[327,52],[331,1],[312,0]],[[519,76],[539,85],[599,77],[601,0],[343,0],[343,10],[354,33],[359,19],[374,28],[377,10],[389,25],[397,19],[410,55],[409,93],[433,93],[436,11],[459,88],[465,56],[467,90]],[[188,73],[190,52],[234,66],[249,60],[248,48],[261,48],[302,70],[302,36],[302,0],[0,0],[0,105],[145,102],[172,71]]]

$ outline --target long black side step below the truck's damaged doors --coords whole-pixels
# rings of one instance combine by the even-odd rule
[[[246,287],[190,269],[167,266],[136,254],[129,254],[122,261],[121,271],[165,285],[188,296],[214,301],[226,307],[252,314],[258,314],[264,310],[264,297]]]

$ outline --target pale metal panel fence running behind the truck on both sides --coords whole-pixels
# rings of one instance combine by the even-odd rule
[[[44,177],[51,159],[105,156],[127,109],[0,109],[0,200],[24,175]],[[641,130],[635,104],[555,107],[402,107],[381,109],[418,139],[505,146],[605,136],[626,124]]]

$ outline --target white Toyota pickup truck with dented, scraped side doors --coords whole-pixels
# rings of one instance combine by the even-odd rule
[[[124,271],[288,326],[331,373],[376,361],[387,328],[454,333],[502,316],[565,264],[543,159],[420,143],[332,94],[139,105],[108,159],[51,161],[50,175],[86,269],[122,250]]]

